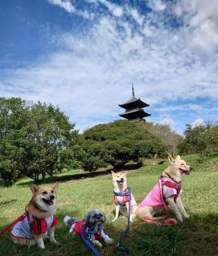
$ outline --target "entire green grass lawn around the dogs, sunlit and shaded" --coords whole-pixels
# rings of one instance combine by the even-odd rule
[[[124,240],[130,256],[218,255],[218,156],[202,160],[196,155],[188,155],[185,160],[193,166],[192,174],[184,177],[182,185],[182,201],[190,219],[174,228],[157,228],[136,220]],[[155,185],[164,167],[163,164],[129,171],[128,185],[137,202]],[[92,255],[80,237],[68,234],[69,229],[62,222],[65,214],[84,217],[91,209],[105,212],[108,219],[105,230],[115,240],[113,245],[100,249],[102,255],[124,255],[116,251],[116,243],[127,220],[119,218],[117,222],[111,222],[115,209],[111,175],[100,172],[89,177],[89,174],[83,174],[83,171],[75,170],[55,177],[60,180],[57,190],[59,225],[56,229],[59,245],[46,242],[44,252],[37,247],[28,249],[12,244],[7,233],[0,238],[0,255]],[[0,188],[0,230],[23,214],[31,198],[30,182],[30,179],[23,179],[12,187]]]

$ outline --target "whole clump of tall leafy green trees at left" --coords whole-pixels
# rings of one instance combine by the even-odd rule
[[[12,185],[20,177],[39,182],[76,164],[80,136],[63,112],[52,104],[0,100],[0,179]]]

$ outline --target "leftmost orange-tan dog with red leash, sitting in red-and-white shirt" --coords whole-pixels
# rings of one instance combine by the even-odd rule
[[[17,244],[38,244],[44,249],[44,238],[49,235],[52,243],[55,240],[55,225],[57,225],[56,190],[58,183],[52,187],[31,185],[33,196],[25,208],[25,214],[12,229],[12,240]]]

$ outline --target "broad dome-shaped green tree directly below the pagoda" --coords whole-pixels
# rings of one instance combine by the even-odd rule
[[[87,171],[94,171],[108,164],[121,168],[129,160],[137,162],[140,158],[155,154],[164,157],[167,151],[167,146],[161,139],[149,133],[139,123],[126,120],[96,125],[86,130],[82,137],[85,155],[81,162]]]

